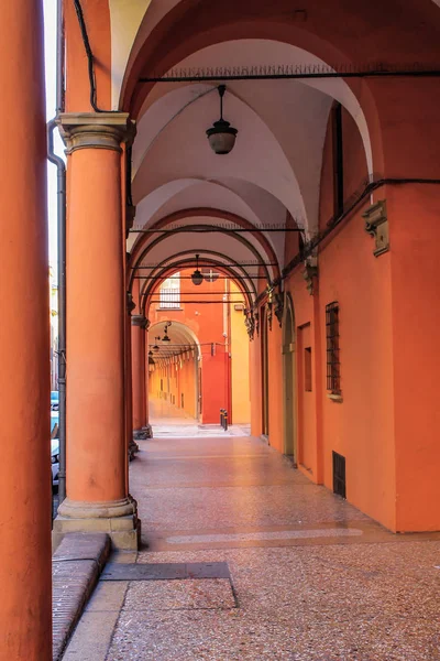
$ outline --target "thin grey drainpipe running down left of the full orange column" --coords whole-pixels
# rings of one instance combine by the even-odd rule
[[[63,0],[57,0],[56,115],[64,110]],[[66,498],[66,165],[54,152],[56,119],[47,123],[47,159],[57,169],[59,505]]]

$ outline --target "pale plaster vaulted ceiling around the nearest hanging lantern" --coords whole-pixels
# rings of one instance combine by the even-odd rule
[[[174,2],[169,2],[169,6]],[[153,0],[150,11],[155,6]],[[155,11],[157,6],[155,7]],[[158,14],[157,14],[158,15]],[[156,18],[157,18],[156,15]],[[268,40],[216,44],[195,53],[182,67],[258,64],[312,64],[320,61],[300,48]],[[322,150],[329,110],[339,100],[356,122],[372,172],[372,152],[365,118],[341,79],[248,80],[228,83],[224,118],[238,130],[228,155],[215,154],[206,129],[219,118],[216,85],[161,83],[144,102],[133,145],[134,229],[150,227],[177,212],[212,208],[235,214],[255,227],[284,226],[292,215],[306,231],[318,227]],[[191,219],[191,223],[200,223]],[[219,225],[218,215],[205,223]],[[180,221],[182,223],[182,221]],[[186,219],[185,223],[189,223]],[[284,234],[264,231],[284,266]],[[254,246],[257,241],[245,235]],[[128,249],[145,235],[131,232]],[[148,236],[148,241],[153,237]],[[156,246],[150,261],[162,261],[180,250],[209,248],[249,260],[249,249],[222,234],[176,235]],[[258,246],[264,258],[267,253]],[[154,256],[154,257],[153,257]]]

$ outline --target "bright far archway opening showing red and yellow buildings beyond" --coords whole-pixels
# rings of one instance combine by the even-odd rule
[[[158,277],[144,290],[148,410],[153,425],[250,423],[249,336],[243,288],[228,273],[200,266]]]

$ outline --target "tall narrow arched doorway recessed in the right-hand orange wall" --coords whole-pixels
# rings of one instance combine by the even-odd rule
[[[297,382],[295,311],[290,294],[285,294],[283,323],[283,419],[284,454],[297,463]]]

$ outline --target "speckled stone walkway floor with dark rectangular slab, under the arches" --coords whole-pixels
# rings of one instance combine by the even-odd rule
[[[260,440],[140,446],[143,566],[107,566],[66,661],[440,661],[440,534],[393,535]]]

